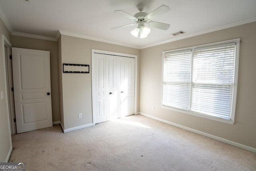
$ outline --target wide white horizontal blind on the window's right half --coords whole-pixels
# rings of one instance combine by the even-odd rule
[[[194,50],[192,111],[230,119],[235,47],[230,43]]]

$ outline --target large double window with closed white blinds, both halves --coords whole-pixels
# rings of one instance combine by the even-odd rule
[[[163,52],[162,106],[233,124],[239,42]]]

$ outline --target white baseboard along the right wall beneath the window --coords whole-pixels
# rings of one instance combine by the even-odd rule
[[[186,129],[186,130],[188,130],[188,131],[191,131],[191,132],[194,132],[194,133],[198,133],[198,134],[200,134],[200,135],[204,135],[204,136],[206,136],[206,137],[209,137],[209,138],[212,138],[212,139],[216,139],[216,140],[221,141],[221,142],[223,142],[223,143],[227,143],[227,144],[229,144],[229,145],[233,145],[233,146],[235,146],[235,147],[238,147],[238,148],[245,149],[245,150],[247,150],[247,151],[251,151],[251,152],[253,152],[253,153],[256,153],[256,148],[249,147],[249,146],[247,146],[247,145],[243,145],[243,144],[240,144],[240,143],[236,143],[236,142],[230,141],[230,140],[228,140],[228,139],[224,139],[224,138],[221,138],[221,137],[217,137],[217,136],[215,136],[215,135],[211,135],[211,134],[208,134],[208,133],[205,133],[205,132],[202,132],[202,131],[198,131],[198,130],[196,130],[196,129],[192,129],[192,128],[189,128],[189,127],[185,127],[185,126],[179,125],[179,124],[177,124],[177,123],[173,123],[173,122],[170,122],[170,121],[166,121],[166,120],[164,120],[164,119],[160,119],[160,118],[158,118],[158,117],[154,117],[154,116],[148,115],[148,114],[146,114],[146,113],[140,112],[140,115],[143,115],[143,116],[146,116],[146,117],[150,117],[150,118],[155,119],[155,120],[157,120],[157,121],[161,121],[161,122],[167,123],[167,124],[169,124],[169,125],[173,125],[173,126],[176,126],[176,127],[182,128],[182,129]]]

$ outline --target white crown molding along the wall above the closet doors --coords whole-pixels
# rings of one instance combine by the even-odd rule
[[[59,32],[60,32],[60,34],[66,35],[66,36],[72,36],[72,37],[83,38],[83,39],[88,39],[88,40],[95,40],[95,41],[98,41],[98,42],[104,42],[104,43],[109,43],[109,44],[116,44],[116,45],[120,45],[120,46],[125,46],[125,47],[129,47],[129,48],[140,49],[140,47],[138,47],[138,46],[132,46],[132,45],[128,45],[128,44],[122,44],[122,43],[119,43],[119,42],[112,42],[112,41],[109,41],[109,40],[93,38],[93,37],[84,36],[84,35],[73,33],[73,32],[67,32],[67,31],[64,31],[64,30],[59,30]]]

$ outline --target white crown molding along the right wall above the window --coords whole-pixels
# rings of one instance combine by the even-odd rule
[[[158,42],[158,43],[155,43],[155,44],[151,44],[151,45],[147,45],[147,46],[142,46],[142,47],[140,47],[140,49],[150,48],[152,46],[157,46],[157,45],[161,45],[161,44],[166,44],[166,43],[174,42],[174,41],[177,41],[177,40],[182,40],[182,39],[185,39],[185,38],[199,36],[201,34],[206,34],[206,33],[215,32],[215,31],[218,31],[218,30],[223,30],[223,29],[226,29],[226,28],[240,26],[242,24],[248,24],[248,23],[255,22],[255,21],[256,21],[256,17],[252,17],[252,18],[248,18],[246,20],[240,20],[238,22],[233,22],[233,23],[225,24],[225,25],[222,25],[222,26],[219,26],[219,27],[210,28],[208,30],[203,30],[201,32],[195,32],[195,33],[192,33],[192,34],[183,35],[183,36],[180,36],[178,38],[173,38],[173,39],[166,40],[166,41],[163,41],[163,42]]]

